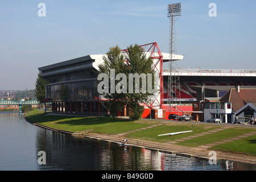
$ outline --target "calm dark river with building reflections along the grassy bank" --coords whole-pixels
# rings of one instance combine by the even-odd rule
[[[46,164],[39,164],[39,151],[45,152]],[[256,166],[223,160],[210,165],[208,160],[73,137],[31,125],[19,113],[1,113],[0,170],[255,171]]]

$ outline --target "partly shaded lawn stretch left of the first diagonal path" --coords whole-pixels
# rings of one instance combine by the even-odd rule
[[[156,122],[137,122],[130,119],[109,117],[75,117],[67,115],[51,115],[39,110],[30,111],[26,117],[35,123],[67,131],[92,130],[95,133],[119,134],[126,131],[150,126]]]

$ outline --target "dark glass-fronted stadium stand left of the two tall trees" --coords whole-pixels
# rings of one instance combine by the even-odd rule
[[[46,99],[53,113],[104,115],[105,100],[97,92],[97,67],[103,55],[89,55],[38,68],[49,82]]]

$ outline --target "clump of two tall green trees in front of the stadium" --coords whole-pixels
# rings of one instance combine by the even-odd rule
[[[153,94],[148,92],[148,89],[146,89],[147,82],[143,80],[143,78],[148,78],[148,73],[154,75],[151,64],[151,58],[146,57],[143,49],[137,44],[127,47],[125,54],[121,53],[118,46],[110,48],[104,56],[104,63],[98,66],[100,71],[98,91],[100,88],[101,94],[109,99],[110,114],[115,115],[125,104],[129,108],[132,119],[141,118],[144,110],[141,104],[147,103],[149,96]],[[105,77],[101,76],[101,73],[104,73]],[[102,81],[102,78],[104,78],[104,81]],[[151,83],[153,85],[154,76],[150,79],[152,79]]]

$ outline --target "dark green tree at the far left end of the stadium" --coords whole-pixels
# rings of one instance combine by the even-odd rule
[[[44,80],[40,76],[40,72],[38,73],[38,78],[36,79],[36,89],[35,89],[35,96],[36,100],[38,100],[41,103],[45,104],[46,99],[46,85],[49,84],[48,81]]]

